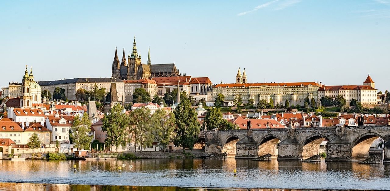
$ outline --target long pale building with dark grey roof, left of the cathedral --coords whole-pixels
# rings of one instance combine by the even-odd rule
[[[77,90],[83,88],[87,91],[94,89],[95,84],[97,88],[105,88],[106,93],[110,92],[111,83],[115,83],[117,87],[117,97],[120,102],[122,102],[122,97],[124,96],[124,82],[120,79],[111,79],[111,78],[74,78],[74,79],[63,79],[56,81],[40,81],[38,84],[41,86],[42,90],[50,91],[53,95],[54,89],[64,88],[65,96],[68,100],[76,100]]]

